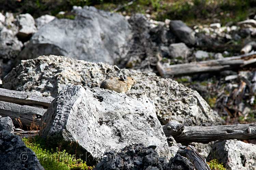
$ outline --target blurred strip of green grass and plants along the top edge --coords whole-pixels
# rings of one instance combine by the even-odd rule
[[[73,5],[93,5],[102,10],[127,15],[149,13],[156,20],[181,19],[189,25],[210,23],[219,19],[223,24],[246,19],[256,7],[256,0],[0,0],[0,10],[14,13],[30,13],[34,17],[43,14],[56,16],[59,11],[71,11]],[[72,18],[72,17],[71,17]]]

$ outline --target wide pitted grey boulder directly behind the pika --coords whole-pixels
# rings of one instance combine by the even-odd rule
[[[6,75],[2,87],[56,97],[67,83],[99,87],[106,78],[118,77],[120,74],[126,74],[137,81],[127,95],[152,99],[157,116],[163,124],[170,120],[188,125],[221,124],[219,116],[213,113],[197,91],[172,79],[160,78],[152,72],[119,69],[104,63],[90,63],[54,55],[41,56],[22,61]]]

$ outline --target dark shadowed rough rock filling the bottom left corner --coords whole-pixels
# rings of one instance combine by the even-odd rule
[[[35,153],[26,147],[19,136],[12,134],[13,128],[10,117],[0,116],[0,169],[44,170]]]

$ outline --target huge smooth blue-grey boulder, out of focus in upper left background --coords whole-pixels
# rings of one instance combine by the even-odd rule
[[[54,19],[39,29],[19,60],[54,54],[114,64],[126,55],[131,30],[125,17],[88,6],[73,11],[74,20]]]

